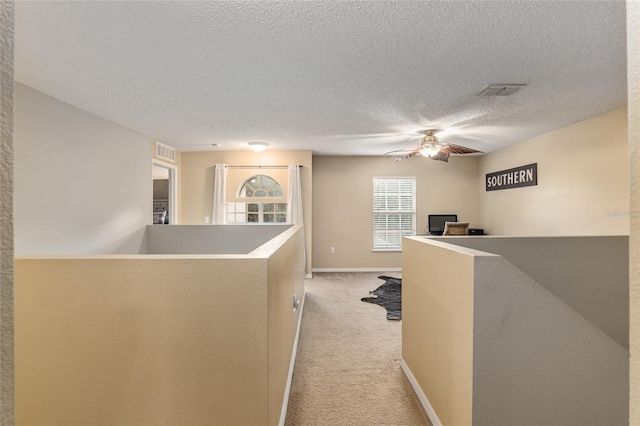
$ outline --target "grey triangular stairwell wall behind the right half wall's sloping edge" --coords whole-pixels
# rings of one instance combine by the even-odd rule
[[[629,238],[435,237],[498,254],[629,349]]]

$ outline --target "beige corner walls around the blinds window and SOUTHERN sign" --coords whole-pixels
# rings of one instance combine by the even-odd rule
[[[373,252],[374,176],[416,176],[417,228],[457,213],[490,235],[628,235],[627,109],[620,108],[481,157],[314,157],[313,268],[390,269],[399,252]],[[486,192],[486,173],[538,164],[538,185]],[[348,190],[345,190],[348,188]],[[336,208],[339,206],[339,208]],[[335,253],[330,248],[335,247]]]

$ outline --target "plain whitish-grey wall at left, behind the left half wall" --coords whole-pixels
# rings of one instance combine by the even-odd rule
[[[16,254],[137,253],[151,223],[151,143],[17,84]]]

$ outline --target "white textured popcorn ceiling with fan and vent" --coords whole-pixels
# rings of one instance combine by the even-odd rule
[[[490,152],[627,97],[622,1],[17,2],[15,26],[18,82],[183,151],[382,155],[435,127]]]

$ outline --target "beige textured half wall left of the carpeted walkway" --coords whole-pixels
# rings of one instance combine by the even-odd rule
[[[276,425],[302,244],[17,259],[16,424]]]

